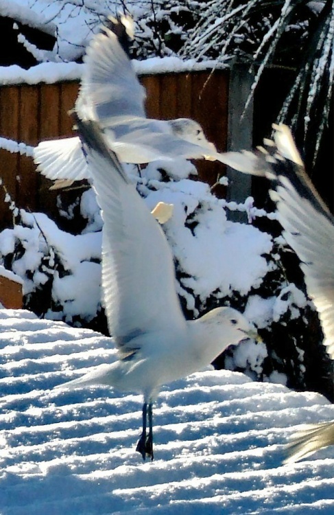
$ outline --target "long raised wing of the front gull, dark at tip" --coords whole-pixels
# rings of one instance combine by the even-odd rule
[[[104,219],[102,283],[120,346],[142,332],[185,324],[169,245],[95,122],[77,119]]]

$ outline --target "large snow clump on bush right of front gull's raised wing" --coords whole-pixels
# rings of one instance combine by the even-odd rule
[[[259,286],[270,267],[263,257],[272,249],[269,234],[252,225],[229,222],[205,183],[181,179],[151,184],[159,189],[146,196],[150,209],[161,201],[174,204],[173,217],[164,230],[174,258],[187,274],[181,279],[183,286],[202,300],[215,290],[224,297],[232,290],[246,295]]]

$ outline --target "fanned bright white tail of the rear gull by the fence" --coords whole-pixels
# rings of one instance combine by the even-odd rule
[[[52,181],[80,181],[89,178],[86,159],[78,137],[41,141],[34,148],[34,161],[38,165],[38,172]]]

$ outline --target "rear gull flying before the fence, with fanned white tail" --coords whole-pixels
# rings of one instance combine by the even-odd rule
[[[178,157],[224,162],[193,119],[146,117],[145,89],[123,49],[125,27],[129,23],[128,18],[119,23],[110,19],[112,30],[102,27],[88,45],[75,103],[77,116],[99,122],[106,144],[125,163],[150,163]],[[124,27],[123,31],[120,26]],[[39,172],[60,181],[60,186],[89,178],[79,137],[42,141],[34,149],[34,161]],[[65,179],[69,183],[64,183]]]

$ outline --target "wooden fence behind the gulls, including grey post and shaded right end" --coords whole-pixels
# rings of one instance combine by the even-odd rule
[[[228,70],[165,73],[143,76],[147,90],[147,115],[160,119],[191,117],[203,126],[206,137],[220,151],[226,145],[250,148],[261,144],[270,134],[270,126],[289,91],[293,75],[286,71],[266,70],[254,95],[252,109],[243,122],[239,119],[247,98],[252,78],[247,70],[235,67]],[[36,145],[43,139],[72,135],[72,121],[67,112],[77,97],[77,82],[0,87],[0,137]],[[236,123],[236,120],[238,122]],[[320,194],[333,209],[333,120],[327,131],[322,159],[312,179]],[[221,163],[197,161],[200,179],[215,183],[223,168]],[[18,207],[43,211],[61,225],[57,197],[62,205],[70,205],[77,192],[50,192],[51,183],[35,172],[32,158],[0,150],[0,177]],[[232,197],[241,200],[251,193],[250,178],[232,174]],[[254,181],[252,194],[261,205],[267,196],[264,181]],[[4,190],[4,188],[3,188]],[[262,190],[262,192],[261,192]],[[220,194],[224,194],[222,187]],[[12,222],[8,204],[0,190],[0,229]],[[64,220],[63,220],[64,221]],[[69,222],[66,222],[69,225]]]

